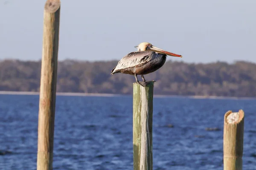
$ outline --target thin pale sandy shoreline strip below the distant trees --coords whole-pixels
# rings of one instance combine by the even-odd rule
[[[32,91],[0,91],[1,94],[7,95],[39,95],[39,92]],[[71,93],[71,92],[57,92],[56,96],[98,96],[98,97],[114,97],[114,96],[132,96],[132,94],[99,94],[99,93]],[[178,98],[190,98],[190,99],[256,99],[255,97],[232,97],[232,96],[179,96],[179,95],[160,95],[155,94],[154,97],[178,97]]]

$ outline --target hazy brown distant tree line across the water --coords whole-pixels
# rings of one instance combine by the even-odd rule
[[[110,75],[117,62],[58,62],[57,91],[132,94],[134,76]],[[40,76],[41,61],[0,61],[0,91],[39,91]],[[145,79],[156,80],[154,94],[256,96],[256,64],[251,62],[167,61],[158,71],[145,75]]]

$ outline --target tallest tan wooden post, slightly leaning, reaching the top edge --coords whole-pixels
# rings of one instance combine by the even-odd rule
[[[60,5],[47,0],[44,6],[37,170],[52,170]]]

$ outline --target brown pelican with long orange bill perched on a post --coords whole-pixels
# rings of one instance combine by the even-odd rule
[[[143,75],[152,73],[163,66],[166,62],[166,55],[174,57],[182,57],[182,55],[170,53],[160,48],[155,47],[151,43],[142,42],[135,46],[138,51],[131,52],[123,57],[111,71],[111,74],[123,73],[134,75],[136,82],[137,75],[141,75],[143,82],[145,78]]]

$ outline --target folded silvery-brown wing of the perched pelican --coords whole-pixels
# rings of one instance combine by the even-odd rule
[[[120,59],[116,67],[113,68],[111,74],[123,70],[125,68],[132,68],[139,65],[143,65],[152,59],[152,51],[136,51],[127,54],[125,57]]]

